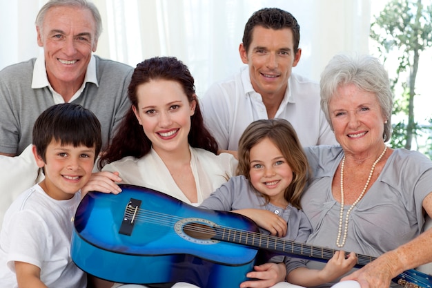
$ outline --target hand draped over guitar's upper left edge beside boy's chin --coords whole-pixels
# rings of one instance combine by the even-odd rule
[[[118,172],[103,171],[92,173],[90,180],[81,188],[81,197],[84,197],[89,191],[118,194],[121,192],[121,189],[115,182],[121,182]]]

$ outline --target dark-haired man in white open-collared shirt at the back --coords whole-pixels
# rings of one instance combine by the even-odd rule
[[[202,99],[206,125],[222,150],[237,151],[239,137],[257,119],[284,118],[303,146],[337,144],[320,108],[320,86],[291,73],[302,55],[300,26],[278,8],[254,12],[244,29],[240,57],[248,67],[210,86]]]

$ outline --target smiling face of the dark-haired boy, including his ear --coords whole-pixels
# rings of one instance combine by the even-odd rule
[[[43,167],[45,173],[41,187],[55,200],[72,198],[88,182],[96,157],[95,147],[61,145],[55,140],[46,148],[46,162],[37,155],[35,146],[33,154],[37,165]]]

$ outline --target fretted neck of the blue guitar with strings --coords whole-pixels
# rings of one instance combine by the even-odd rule
[[[242,231],[230,228],[216,228],[214,240],[230,242],[234,244],[242,244],[248,247],[273,251],[278,254],[287,256],[296,256],[297,258],[314,259],[322,262],[330,260],[335,249],[324,247],[316,247],[309,244],[295,242],[291,240],[283,240],[276,236],[268,236],[262,233],[251,231]],[[375,257],[357,254],[357,267],[363,267],[373,261]]]

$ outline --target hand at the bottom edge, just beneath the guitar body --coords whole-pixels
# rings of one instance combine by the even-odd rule
[[[241,288],[267,288],[277,282],[284,282],[286,278],[286,267],[284,263],[266,263],[255,266],[255,271],[246,274],[246,277],[255,280],[248,280],[240,284]]]

